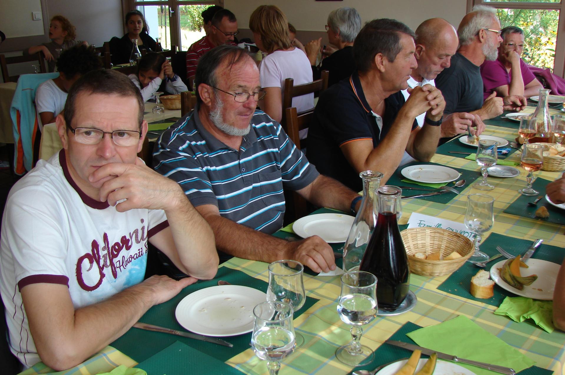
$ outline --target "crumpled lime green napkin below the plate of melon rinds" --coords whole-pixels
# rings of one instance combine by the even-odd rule
[[[547,333],[553,332],[553,301],[534,301],[527,297],[506,297],[496,311],[496,315],[506,315],[510,319],[523,322],[532,319]]]

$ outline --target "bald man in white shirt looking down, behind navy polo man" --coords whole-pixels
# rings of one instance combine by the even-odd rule
[[[432,18],[425,20],[416,29],[416,51],[414,56],[418,61],[418,68],[412,69],[410,77],[407,80],[408,87],[414,89],[416,86],[432,85],[436,86],[434,79],[442,70],[449,67],[451,56],[455,55],[458,46],[457,32],[449,22],[441,18]],[[407,90],[402,90],[402,95],[408,99]],[[455,116],[455,115],[462,116]],[[416,117],[418,126],[421,128],[424,124],[425,112]],[[450,126],[453,121],[469,123],[474,116],[469,113],[456,113],[444,119],[441,124],[442,129]],[[415,129],[415,131],[418,131]],[[415,161],[405,151],[400,165],[405,165],[411,161]]]

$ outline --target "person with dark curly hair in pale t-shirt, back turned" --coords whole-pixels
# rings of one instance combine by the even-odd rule
[[[67,92],[83,74],[102,68],[102,61],[94,47],[79,45],[64,50],[56,62],[59,77],[47,80],[37,87],[36,111],[41,126],[55,122],[67,102]]]

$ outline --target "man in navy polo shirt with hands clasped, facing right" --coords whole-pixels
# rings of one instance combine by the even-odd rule
[[[346,186],[362,189],[359,173],[384,174],[397,169],[404,151],[428,161],[440,138],[445,101],[432,85],[400,90],[417,67],[414,33],[390,19],[372,20],[355,38],[353,55],[358,71],[320,96],[314,123],[308,130],[308,160],[321,174]],[[426,113],[420,131],[416,116]]]

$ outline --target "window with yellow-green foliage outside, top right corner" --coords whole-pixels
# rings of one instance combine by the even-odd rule
[[[501,27],[517,26],[524,30],[525,63],[540,68],[550,68],[563,77],[565,67],[565,33],[563,30],[560,0],[467,0],[468,9],[473,5],[487,5],[497,9]]]

